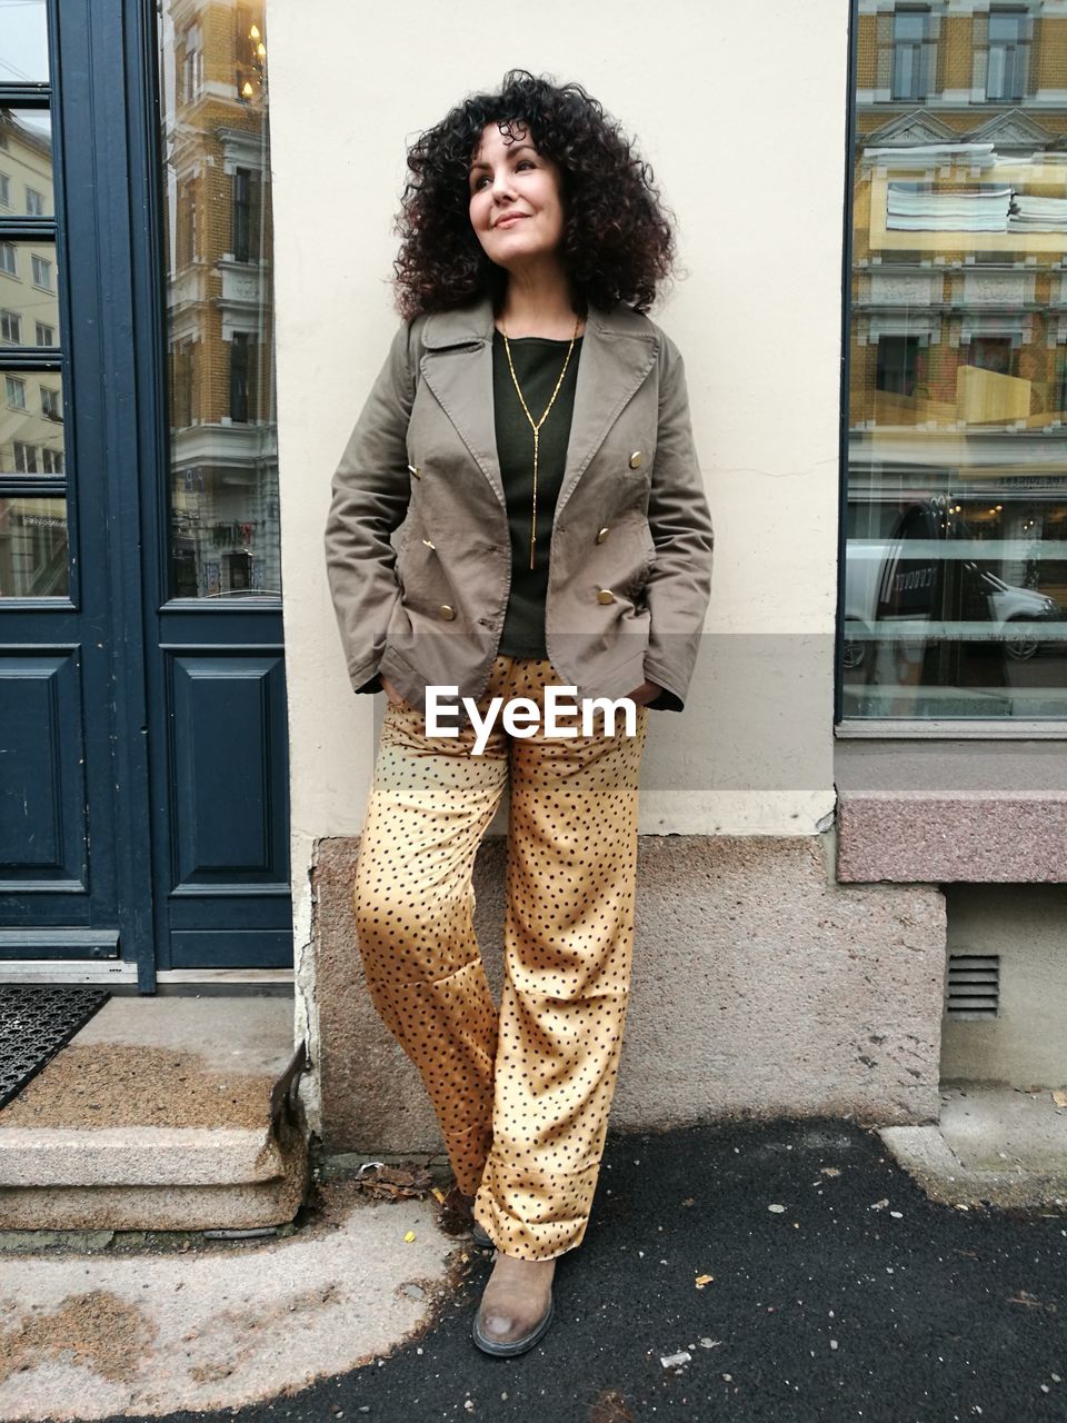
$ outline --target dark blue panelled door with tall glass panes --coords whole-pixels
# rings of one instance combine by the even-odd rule
[[[262,17],[3,21],[0,955],[285,966]]]

